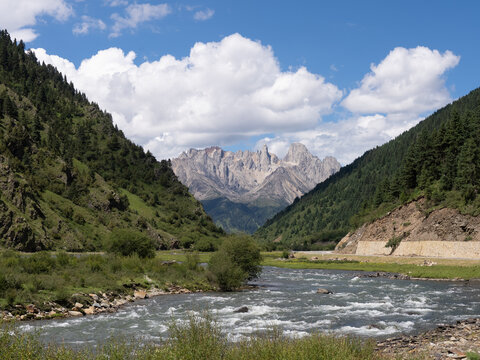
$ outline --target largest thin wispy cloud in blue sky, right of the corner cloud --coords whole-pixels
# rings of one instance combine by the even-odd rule
[[[125,16],[115,13],[111,37],[118,37],[124,29],[135,29],[139,24],[151,20],[162,19],[172,12],[168,4],[132,4],[125,9]]]

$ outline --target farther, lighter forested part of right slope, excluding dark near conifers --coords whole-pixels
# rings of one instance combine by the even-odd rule
[[[416,183],[413,188],[403,189],[400,182],[405,159],[414,156],[414,144],[424,143],[425,134],[440,129],[451,118],[460,116],[464,123],[472,121],[472,116],[478,117],[479,106],[480,90],[477,89],[438,110],[394,140],[367,151],[268,220],[257,231],[256,237],[266,243],[281,238],[285,246],[308,248],[331,231],[338,232],[335,240],[339,240],[349,229],[415,197]],[[444,162],[451,163],[450,160],[444,159]],[[415,164],[420,166],[420,162]],[[416,182],[416,176],[420,176],[421,172],[417,174],[415,166],[412,171]],[[382,188],[388,190],[384,192],[380,190]],[[394,194],[395,200],[384,202],[381,198],[383,193]]]

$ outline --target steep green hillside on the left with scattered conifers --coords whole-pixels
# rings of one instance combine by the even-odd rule
[[[0,32],[0,246],[97,250],[116,228],[159,248],[212,248],[223,235],[170,161]]]

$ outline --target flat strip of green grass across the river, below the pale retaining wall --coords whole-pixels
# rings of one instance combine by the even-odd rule
[[[277,266],[290,269],[332,269],[332,270],[353,270],[353,271],[376,271],[405,274],[414,278],[426,279],[480,279],[480,264],[478,262],[467,262],[459,265],[457,262],[442,262],[432,266],[408,263],[411,258],[345,258],[343,255],[332,255],[319,260],[309,260],[306,257],[296,259],[281,259],[281,253],[264,253],[262,265]],[[346,260],[335,260],[341,257]],[[363,260],[363,261],[362,261]],[[395,262],[396,261],[396,262]],[[422,262],[425,260],[421,260]]]

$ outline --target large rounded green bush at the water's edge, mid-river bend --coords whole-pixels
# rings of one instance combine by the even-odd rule
[[[221,290],[232,291],[260,272],[260,248],[248,236],[230,237],[209,261],[209,270]]]

